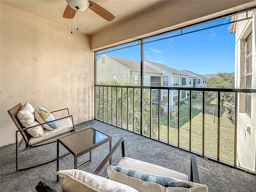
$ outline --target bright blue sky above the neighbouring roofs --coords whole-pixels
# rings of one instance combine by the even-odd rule
[[[190,70],[198,74],[216,74],[217,72],[234,72],[235,34],[229,32],[230,24],[184,34],[209,26],[230,22],[229,18],[183,29],[182,36],[150,42],[181,31],[146,39],[144,42],[144,59],[164,64],[178,70]],[[132,45],[138,42],[132,43]],[[127,45],[125,45],[127,46]],[[116,49],[124,46],[117,46]],[[113,50],[110,49],[110,50]],[[106,54],[140,61],[140,46],[133,46]]]

